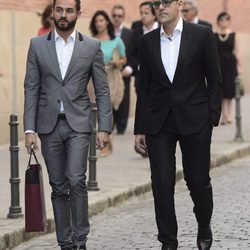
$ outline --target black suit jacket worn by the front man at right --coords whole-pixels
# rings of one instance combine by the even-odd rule
[[[159,133],[170,108],[183,135],[198,133],[209,121],[218,125],[222,80],[211,29],[184,22],[172,83],[161,60],[160,29],[142,36],[140,47],[134,133]]]

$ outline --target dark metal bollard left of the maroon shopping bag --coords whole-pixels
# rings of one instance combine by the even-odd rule
[[[7,218],[17,219],[23,217],[22,208],[20,207],[20,191],[19,191],[19,159],[18,159],[18,119],[17,115],[10,116],[10,184],[11,184],[11,206]]]

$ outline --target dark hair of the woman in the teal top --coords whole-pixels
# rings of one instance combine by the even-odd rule
[[[98,10],[92,17],[90,25],[89,25],[90,32],[92,33],[93,36],[98,34],[98,31],[95,26],[95,19],[97,16],[103,16],[105,20],[108,22],[108,27],[107,27],[108,34],[109,34],[110,39],[113,40],[115,38],[115,28],[114,28],[113,23],[111,22],[109,15],[104,10]]]

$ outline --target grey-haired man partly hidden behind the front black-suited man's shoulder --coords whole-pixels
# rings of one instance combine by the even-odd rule
[[[181,10],[184,20],[188,23],[195,23],[200,25],[208,26],[212,29],[212,24],[201,20],[198,17],[198,5],[195,0],[185,0],[184,6]]]

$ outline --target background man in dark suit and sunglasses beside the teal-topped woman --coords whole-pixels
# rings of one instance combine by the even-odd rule
[[[122,76],[124,81],[124,96],[118,110],[113,110],[114,125],[116,126],[118,134],[124,134],[128,116],[129,116],[129,103],[130,103],[130,80],[133,69],[130,65],[131,60],[131,41],[132,30],[123,26],[125,19],[125,9],[122,5],[115,5],[112,8],[112,19],[115,27],[115,35],[120,37],[126,47],[127,64],[122,69]]]

